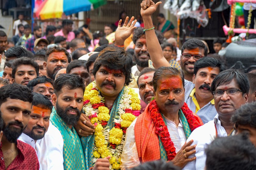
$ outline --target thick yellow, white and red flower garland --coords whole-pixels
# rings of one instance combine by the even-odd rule
[[[105,127],[110,119],[109,110],[105,107],[104,98],[99,95],[95,81],[85,88],[83,110],[96,126],[93,160],[110,156],[110,169],[120,169],[126,128],[140,113],[138,94],[132,88],[124,88],[119,101],[119,116],[114,120],[116,126],[112,129]]]

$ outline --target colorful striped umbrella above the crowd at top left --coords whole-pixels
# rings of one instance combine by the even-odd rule
[[[71,15],[80,11],[90,11],[105,4],[107,0],[44,0],[35,14],[41,19],[61,18],[63,12]]]

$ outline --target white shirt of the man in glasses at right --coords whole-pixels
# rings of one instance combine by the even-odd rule
[[[215,125],[216,124],[216,129]],[[192,158],[196,156],[195,161],[188,162],[187,165],[182,170],[204,170],[206,155],[204,153],[205,148],[208,144],[210,144],[216,138],[216,130],[218,133],[218,137],[226,137],[228,136],[224,127],[221,126],[219,115],[217,114],[212,121],[204,124],[203,126],[197,127],[187,139],[187,142],[190,140],[194,140],[191,144],[197,144],[195,155],[189,156]]]

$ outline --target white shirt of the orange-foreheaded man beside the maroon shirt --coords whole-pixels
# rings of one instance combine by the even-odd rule
[[[40,139],[40,140],[37,140],[37,141],[35,142],[34,139],[32,139],[32,138],[30,138],[28,135],[22,133],[22,134],[20,135],[20,137],[18,138],[18,140],[23,141],[23,142],[29,144],[30,146],[32,146],[32,147],[35,149],[36,153],[37,153],[37,158],[38,158],[38,161],[39,161],[39,159],[40,159],[40,157],[41,157],[41,148],[40,148],[40,145],[39,145],[41,139]],[[40,166],[39,169],[42,170],[42,166],[41,166],[40,161],[39,161],[39,166]]]

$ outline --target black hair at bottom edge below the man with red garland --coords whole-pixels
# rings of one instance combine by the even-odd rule
[[[173,165],[172,162],[166,162],[165,160],[149,161],[144,164],[140,164],[130,170],[180,170],[179,167]]]

